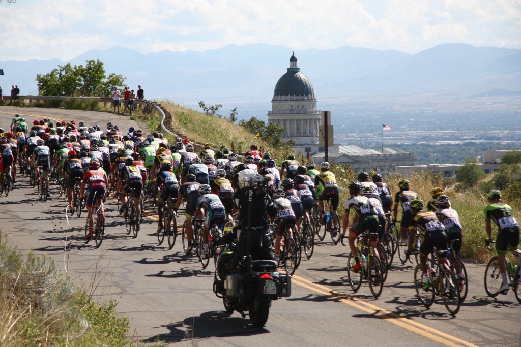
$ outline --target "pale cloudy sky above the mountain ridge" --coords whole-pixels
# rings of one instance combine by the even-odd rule
[[[115,45],[143,54],[251,43],[521,48],[521,0],[0,0],[0,33],[0,61],[67,61]]]

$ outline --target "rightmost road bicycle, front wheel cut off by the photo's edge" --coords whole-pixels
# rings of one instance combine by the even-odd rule
[[[495,243],[492,240],[485,240],[485,246],[488,250],[492,250],[490,247],[491,243]],[[508,260],[508,256],[505,260],[506,262],[506,273],[508,276],[508,281],[510,282],[510,288],[514,292],[514,295],[519,303],[521,303],[521,251],[518,249],[507,248],[506,251],[508,253],[512,253],[514,255],[514,259],[516,262],[510,262]],[[501,274],[499,272],[499,264],[498,264],[498,256],[493,256],[487,264],[485,268],[485,291],[487,295],[491,298],[495,298],[499,294],[499,288],[503,280],[501,278]],[[506,294],[506,293],[505,293]]]

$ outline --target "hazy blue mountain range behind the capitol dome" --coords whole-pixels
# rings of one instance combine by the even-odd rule
[[[115,46],[92,49],[70,60],[73,65],[100,59],[108,73],[128,78],[145,89],[145,97],[181,103],[269,101],[275,84],[289,66],[292,49],[269,44],[228,45],[204,52],[141,54]],[[521,90],[521,50],[441,44],[411,55],[397,50],[344,46],[296,50],[301,71],[319,100],[345,98],[458,98]],[[4,91],[18,84],[21,94],[36,93],[36,74],[65,62],[58,59],[0,62]]]

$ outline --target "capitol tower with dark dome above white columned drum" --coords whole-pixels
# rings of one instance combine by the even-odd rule
[[[290,58],[288,72],[275,85],[268,122],[284,128],[282,140],[292,139],[297,152],[318,152],[320,111],[317,110],[317,98],[313,85],[297,66],[295,53]]]

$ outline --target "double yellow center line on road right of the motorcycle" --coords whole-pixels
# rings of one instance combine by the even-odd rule
[[[431,328],[421,323],[415,322],[413,319],[402,317],[401,315],[382,309],[374,304],[351,297],[348,294],[340,293],[334,289],[313,283],[300,276],[293,275],[292,282],[298,286],[313,290],[317,293],[328,295],[328,297],[338,300],[346,305],[355,307],[358,310],[372,314],[373,316],[386,319],[388,322],[398,325],[402,328],[415,332],[433,341],[448,346],[464,345],[469,347],[477,347],[475,344],[459,339],[440,330]],[[356,302],[354,302],[356,301]],[[364,307],[365,306],[365,307]]]

